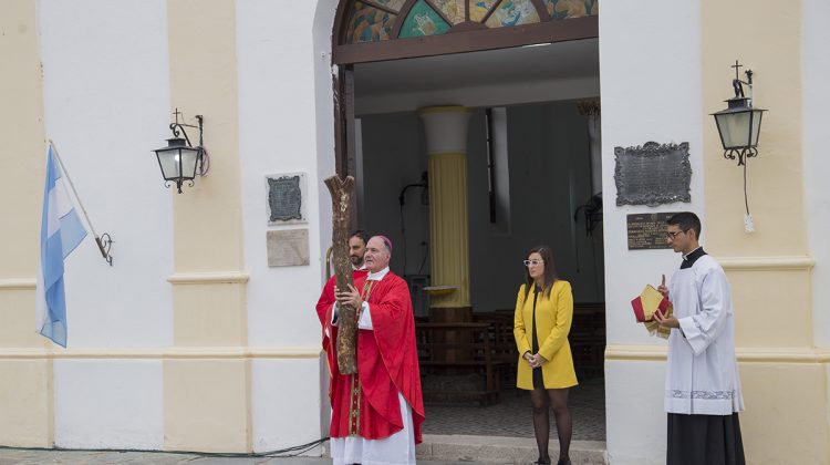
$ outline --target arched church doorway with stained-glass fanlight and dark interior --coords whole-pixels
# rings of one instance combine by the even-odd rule
[[[575,302],[573,438],[605,440],[595,2],[572,19],[558,3],[568,2],[354,0],[338,11],[338,169],[357,180],[355,224],[393,240],[392,269],[411,286],[425,434],[532,437],[528,395],[515,388],[512,314],[527,250],[549,245]],[[434,308],[452,286],[433,271],[430,208],[442,199],[429,186],[429,108],[468,114],[459,257],[469,297],[455,312]]]

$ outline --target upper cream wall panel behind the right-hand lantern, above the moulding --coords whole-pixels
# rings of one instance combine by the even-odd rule
[[[751,69],[755,105],[765,113],[759,155],[747,164],[749,211],[756,231],[744,232],[743,170],[723,157],[712,116],[704,115],[706,224],[717,256],[807,254],[801,170],[800,1],[703,1],[703,108],[714,113],[734,96],[729,65]],[[737,20],[739,19],[739,20]],[[741,79],[746,79],[741,75]]]

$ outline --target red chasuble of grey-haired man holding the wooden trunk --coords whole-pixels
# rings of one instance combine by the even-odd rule
[[[355,286],[369,296],[364,300],[369,302],[373,327],[357,332],[356,375],[338,370],[338,329],[330,324],[331,311],[324,320],[332,334],[325,348],[331,370],[331,437],[360,435],[382,440],[403,430],[400,392],[412,407],[413,433],[419,444],[424,402],[409,288],[391,271],[380,281],[355,278]]]

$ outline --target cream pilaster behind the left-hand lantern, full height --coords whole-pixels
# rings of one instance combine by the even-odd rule
[[[251,451],[235,11],[232,0],[167,3],[170,111],[205,116],[211,157],[207,177],[170,189],[174,344],[185,355],[164,362],[167,450]]]

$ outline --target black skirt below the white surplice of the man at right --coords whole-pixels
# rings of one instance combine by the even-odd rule
[[[667,465],[744,465],[738,414],[668,414]]]

